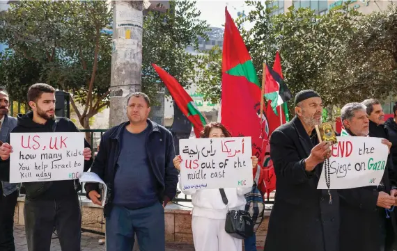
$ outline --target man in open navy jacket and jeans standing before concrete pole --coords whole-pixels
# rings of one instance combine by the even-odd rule
[[[141,250],[165,250],[164,206],[176,194],[178,171],[172,134],[149,113],[146,94],[130,95],[129,121],[104,133],[91,168],[107,184],[107,197],[100,198],[98,184],[86,184],[93,203],[106,200],[107,250],[131,251],[134,234]]]

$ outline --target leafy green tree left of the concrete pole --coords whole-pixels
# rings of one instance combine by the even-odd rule
[[[0,42],[13,50],[13,58],[1,71],[24,69],[26,60],[40,66],[38,81],[71,92],[70,102],[82,127],[107,106],[109,94],[111,37],[102,33],[111,23],[105,1],[18,1],[0,17]],[[24,57],[22,59],[21,57]],[[28,63],[29,65],[29,63]],[[25,68],[26,67],[26,68]],[[37,72],[34,72],[37,76]],[[32,80],[18,80],[8,72],[8,89],[17,85],[14,99],[26,102],[26,88]],[[13,77],[14,76],[14,77]],[[35,79],[36,80],[36,79]],[[77,103],[83,105],[82,111]]]

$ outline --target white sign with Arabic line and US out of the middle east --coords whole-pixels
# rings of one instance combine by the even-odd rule
[[[179,141],[182,190],[252,186],[251,137]]]

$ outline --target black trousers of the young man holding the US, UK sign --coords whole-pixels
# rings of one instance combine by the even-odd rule
[[[29,251],[50,251],[54,229],[62,251],[81,250],[81,211],[77,195],[59,200],[26,200],[24,216]]]

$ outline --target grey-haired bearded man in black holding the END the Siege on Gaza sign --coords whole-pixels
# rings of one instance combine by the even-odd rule
[[[350,136],[368,136],[371,131],[366,106],[343,106],[341,120]],[[382,140],[389,146],[388,140]],[[338,191],[341,197],[341,251],[394,250],[396,224],[393,206],[396,179],[387,161],[379,186],[365,186]]]

